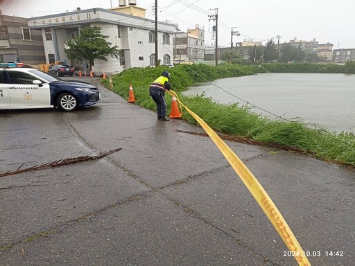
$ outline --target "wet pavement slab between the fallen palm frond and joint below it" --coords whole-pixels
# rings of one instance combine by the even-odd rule
[[[101,159],[1,177],[0,191],[0,247],[5,247],[150,189]]]

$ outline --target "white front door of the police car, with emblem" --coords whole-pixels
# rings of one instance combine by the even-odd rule
[[[38,78],[21,71],[8,71],[8,79],[11,107],[49,107],[51,105],[49,83],[35,85],[33,80],[38,80]]]

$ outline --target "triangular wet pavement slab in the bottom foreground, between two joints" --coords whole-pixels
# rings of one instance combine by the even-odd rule
[[[155,193],[6,252],[7,265],[273,265]]]

